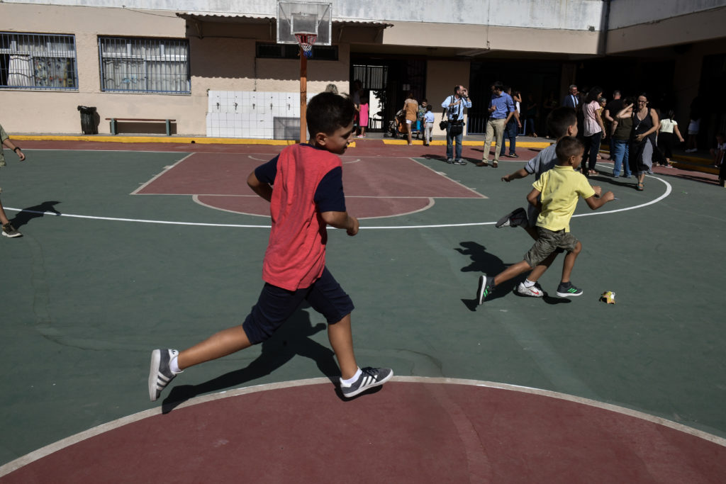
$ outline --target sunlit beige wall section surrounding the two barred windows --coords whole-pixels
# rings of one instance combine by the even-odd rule
[[[184,36],[184,20],[171,12],[126,9],[0,4],[0,30],[21,33],[76,34],[78,91],[0,91],[4,126],[16,134],[81,132],[79,105],[97,107],[99,133],[109,133],[103,118],[174,118],[179,133],[191,131],[192,97],[105,93],[100,90],[97,35]],[[206,99],[203,101],[206,110]],[[202,121],[204,118],[202,118]]]

